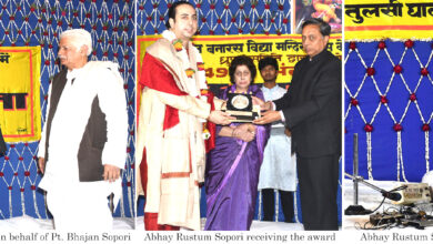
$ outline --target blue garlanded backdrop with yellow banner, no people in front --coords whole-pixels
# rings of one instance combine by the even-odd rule
[[[364,2],[367,1],[346,0],[345,21],[356,20],[352,12],[366,8],[359,6]],[[432,170],[432,16],[425,17],[424,12],[412,23],[401,22],[401,18],[384,11],[394,8],[397,11],[401,4],[403,20],[412,20],[409,7],[417,4],[422,13],[425,1],[374,3],[371,9],[377,16],[373,16],[374,11],[361,11],[369,24],[365,33],[360,33],[362,28],[352,28],[353,24],[345,27],[345,37],[353,37],[344,44],[345,172],[353,172],[353,134],[358,133],[362,176],[420,182]],[[369,29],[375,26],[382,29]],[[417,27],[430,31],[419,32]]]

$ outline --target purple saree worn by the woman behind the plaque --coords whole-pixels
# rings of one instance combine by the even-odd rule
[[[221,99],[226,100],[235,85],[225,89]],[[263,100],[256,85],[250,85],[250,94]],[[236,126],[240,123],[231,123]],[[251,142],[219,136],[222,126],[216,125],[215,148],[210,151],[205,170],[207,231],[250,230],[258,195],[260,166],[268,142],[270,126],[256,125]]]

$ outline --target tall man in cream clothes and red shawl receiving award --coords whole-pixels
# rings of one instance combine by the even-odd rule
[[[173,3],[165,26],[147,49],[139,84],[139,193],[145,195],[145,230],[200,230],[204,139],[212,131],[205,122],[229,124],[231,118],[209,94],[202,58],[191,43],[198,27],[193,6]]]

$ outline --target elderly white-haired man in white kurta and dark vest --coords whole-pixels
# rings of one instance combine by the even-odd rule
[[[84,30],[60,35],[59,59],[39,145],[39,187],[56,230],[111,230],[108,196],[121,193],[128,112],[123,79],[112,62],[90,61],[92,40]]]

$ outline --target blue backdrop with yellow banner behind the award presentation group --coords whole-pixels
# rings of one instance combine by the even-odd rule
[[[140,75],[141,61],[144,49],[151,44],[157,35],[165,30],[164,23],[168,6],[171,0],[138,1],[137,31],[138,31],[138,73]],[[246,54],[254,62],[272,54],[279,60],[280,74],[278,82],[288,88],[291,81],[294,64],[305,55],[302,51],[300,35],[291,33],[291,0],[279,1],[190,1],[197,6],[199,33],[194,38],[194,45],[201,50],[207,70],[210,89],[219,94],[229,83],[226,70],[235,55]],[[342,55],[341,37],[333,37],[329,49],[336,55]],[[262,83],[260,75],[256,83]],[[138,202],[138,215],[143,215],[144,199]],[[276,202],[279,204],[279,202]],[[295,195],[295,221],[302,222],[299,192]],[[341,206],[341,184],[339,187],[339,207]],[[340,207],[341,209],[341,207]],[[283,221],[281,204],[275,207],[275,217]],[[262,203],[258,196],[255,217],[261,220]],[[202,189],[201,215],[205,216],[205,194]],[[341,220],[341,216],[340,216]]]

